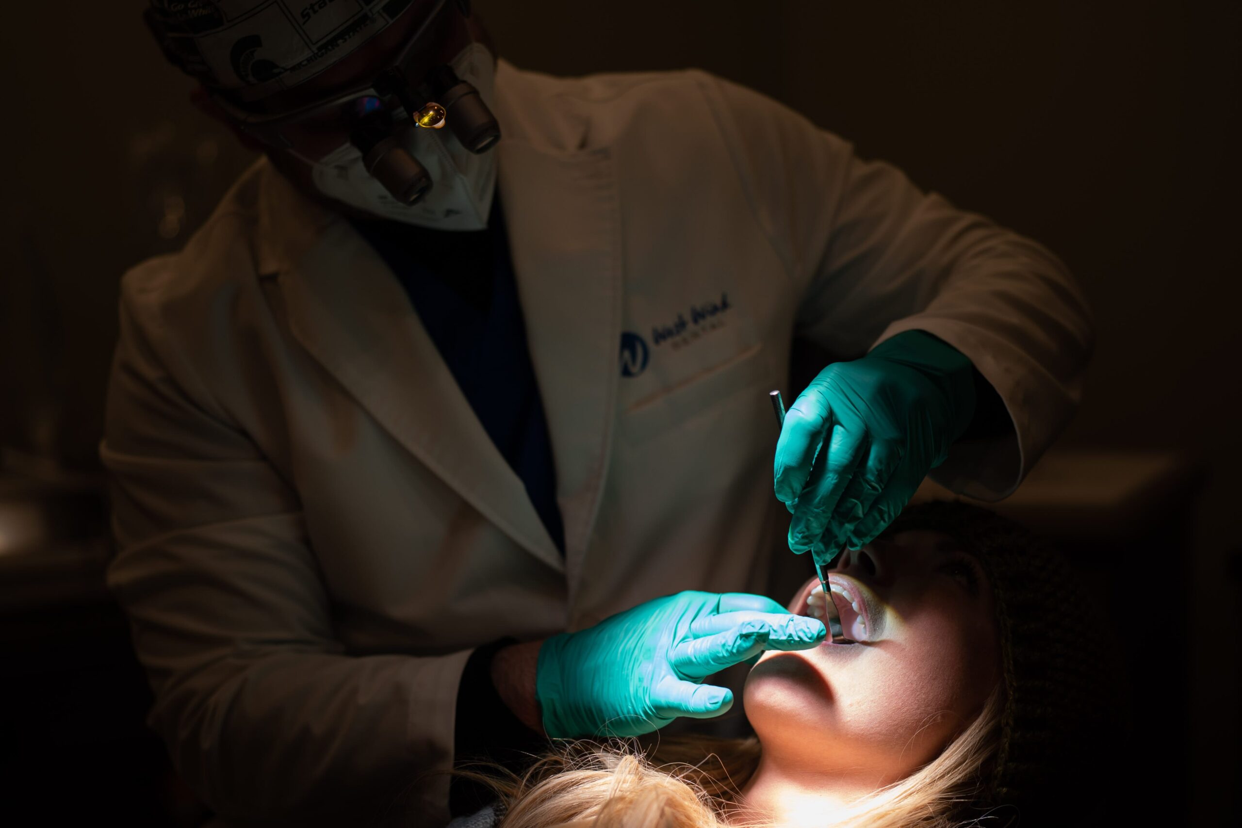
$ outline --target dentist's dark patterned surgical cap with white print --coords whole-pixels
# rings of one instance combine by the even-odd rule
[[[258,101],[345,57],[412,0],[152,0],[164,53],[211,89]]]

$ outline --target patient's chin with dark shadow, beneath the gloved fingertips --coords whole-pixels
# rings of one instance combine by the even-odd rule
[[[782,720],[814,722],[831,708],[832,693],[804,655],[768,653],[746,677],[743,704],[751,726],[761,731],[765,724]]]

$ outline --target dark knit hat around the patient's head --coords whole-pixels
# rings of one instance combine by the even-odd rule
[[[1093,787],[1092,770],[1122,726],[1117,649],[1095,602],[1047,541],[986,509],[956,502],[910,506],[888,531],[915,529],[943,531],[979,557],[996,598],[1001,741],[966,816],[989,813],[1001,824],[1018,817],[1023,826],[1088,818],[1076,792]]]

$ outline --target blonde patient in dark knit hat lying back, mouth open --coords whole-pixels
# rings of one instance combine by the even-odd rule
[[[912,506],[828,576],[853,644],[768,652],[743,701],[755,737],[573,742],[491,778],[499,828],[1077,824],[1108,715],[1090,602],[1025,529],[959,503]],[[822,617],[817,580],[792,612]]]

